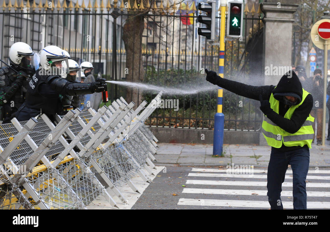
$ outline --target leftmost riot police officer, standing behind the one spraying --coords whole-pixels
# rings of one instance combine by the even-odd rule
[[[0,68],[0,120],[3,120],[3,124],[11,122],[25,101],[27,78],[29,79],[35,71],[32,55],[34,53],[28,44],[16,42],[9,50],[11,68]]]

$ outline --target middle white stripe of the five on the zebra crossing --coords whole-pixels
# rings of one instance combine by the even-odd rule
[[[193,184],[193,185],[267,186],[267,181],[187,180],[186,184]],[[292,182],[283,182],[282,187],[293,187],[293,184],[292,184]],[[330,188],[330,183],[306,183],[306,188]]]

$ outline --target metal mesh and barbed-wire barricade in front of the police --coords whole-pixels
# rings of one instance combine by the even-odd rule
[[[158,141],[144,121],[161,94],[134,111],[121,97],[97,112],[57,115],[56,125],[46,115],[0,125],[0,209],[86,209],[99,195],[117,207],[99,178],[127,203],[118,187],[139,193],[131,178],[154,175]]]

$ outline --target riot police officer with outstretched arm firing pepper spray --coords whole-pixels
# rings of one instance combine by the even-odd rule
[[[105,81],[93,83],[72,83],[61,78],[62,64],[67,67],[68,59],[61,48],[49,45],[40,53],[40,68],[31,78],[26,100],[20,107],[17,120],[25,121],[39,114],[46,114],[51,121],[55,114],[62,114],[62,100],[65,95],[90,94],[107,88]]]

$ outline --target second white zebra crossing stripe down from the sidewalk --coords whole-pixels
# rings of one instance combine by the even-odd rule
[[[188,176],[267,179],[267,175],[256,175],[256,174],[248,174],[248,173],[247,174],[189,173]],[[285,175],[285,179],[293,179],[293,176]],[[306,179],[330,180],[330,176],[307,176]]]

